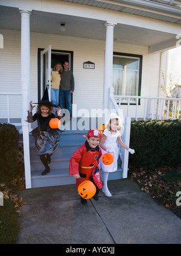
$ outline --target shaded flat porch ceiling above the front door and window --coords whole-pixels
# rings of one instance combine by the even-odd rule
[[[87,19],[78,16],[33,10],[30,17],[30,30],[37,33],[60,34],[63,36],[105,40],[105,21],[106,19],[101,21],[97,19]],[[65,32],[60,31],[60,23],[65,23]],[[21,15],[18,8],[0,6],[0,28],[21,30]],[[174,38],[174,34],[171,33],[125,24],[117,24],[114,29],[115,42],[122,42],[125,44],[152,47],[153,45],[159,45],[162,42],[174,40]]]

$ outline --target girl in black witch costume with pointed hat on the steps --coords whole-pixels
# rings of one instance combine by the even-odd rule
[[[53,107],[58,107],[57,105],[52,105],[52,102],[49,102],[48,98],[48,89],[46,87],[45,93],[37,103],[37,111],[36,114],[32,114],[32,110],[35,106],[32,105],[32,101],[30,101],[30,108],[28,111],[28,122],[34,122],[37,120],[38,127],[35,128],[31,133],[35,137],[36,140],[36,149],[39,154],[40,160],[45,166],[45,171],[42,172],[42,175],[46,175],[49,172],[48,164],[51,162],[51,155],[56,151],[59,146],[59,133],[56,129],[52,129],[49,126],[49,121],[56,116],[52,113],[54,110]],[[61,119],[60,116],[61,108],[57,108],[58,118]]]

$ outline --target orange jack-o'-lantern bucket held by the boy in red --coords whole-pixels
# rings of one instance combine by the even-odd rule
[[[79,186],[78,186],[78,194],[83,199],[91,199],[95,195],[96,188],[95,185],[90,182],[90,180],[84,180]]]

